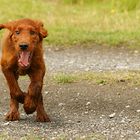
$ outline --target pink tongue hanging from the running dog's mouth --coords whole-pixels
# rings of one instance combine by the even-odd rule
[[[22,51],[20,53],[18,62],[22,67],[29,65],[29,56],[30,56],[30,52]]]

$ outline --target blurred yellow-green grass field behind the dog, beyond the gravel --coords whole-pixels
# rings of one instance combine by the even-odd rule
[[[42,20],[49,32],[45,43],[50,46],[139,47],[138,0],[131,8],[125,0],[112,1],[1,0],[0,23],[25,17]]]

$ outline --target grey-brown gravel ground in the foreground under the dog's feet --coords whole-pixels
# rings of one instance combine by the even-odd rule
[[[3,90],[6,89],[0,88],[0,93]],[[3,116],[8,110],[9,96],[7,92],[1,94],[0,138],[140,139],[140,86],[128,87],[122,83],[92,85],[86,82],[66,85],[47,84],[43,93],[51,123],[35,122],[35,114],[27,116],[22,106],[20,106],[20,121],[4,121]]]

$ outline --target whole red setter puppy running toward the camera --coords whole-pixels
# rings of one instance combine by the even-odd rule
[[[45,74],[42,41],[47,36],[47,31],[42,22],[31,19],[0,24],[0,29],[4,28],[8,31],[2,40],[1,68],[11,97],[6,120],[20,119],[18,108],[19,103],[22,103],[27,114],[37,111],[37,121],[50,121],[43,107],[41,93]],[[28,92],[24,93],[18,85],[18,78],[26,74],[31,83]]]

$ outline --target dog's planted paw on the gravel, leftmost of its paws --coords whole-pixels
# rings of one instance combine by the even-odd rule
[[[19,119],[20,119],[20,115],[19,115],[18,111],[8,112],[6,117],[5,117],[5,120],[7,120],[7,121],[17,121]]]

